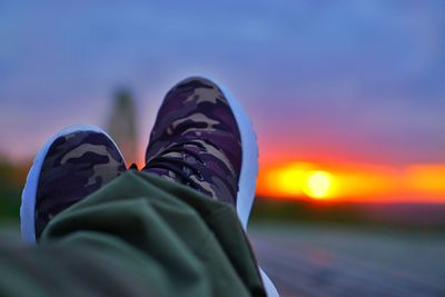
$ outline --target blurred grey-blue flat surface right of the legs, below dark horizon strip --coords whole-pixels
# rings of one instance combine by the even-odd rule
[[[249,229],[283,297],[445,296],[445,235],[335,227]]]

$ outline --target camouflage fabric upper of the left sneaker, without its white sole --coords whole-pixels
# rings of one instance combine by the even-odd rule
[[[108,136],[76,131],[56,139],[44,158],[36,197],[36,237],[49,220],[126,171]]]

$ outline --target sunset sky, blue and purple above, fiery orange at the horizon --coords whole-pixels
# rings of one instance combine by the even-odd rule
[[[121,86],[142,152],[190,75],[251,115],[259,194],[445,202],[441,0],[0,1],[0,152],[26,160],[62,127],[103,127]]]

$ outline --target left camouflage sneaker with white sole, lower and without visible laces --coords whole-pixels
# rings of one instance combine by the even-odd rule
[[[22,237],[36,242],[49,220],[126,170],[116,143],[93,126],[55,135],[37,155],[22,192]]]

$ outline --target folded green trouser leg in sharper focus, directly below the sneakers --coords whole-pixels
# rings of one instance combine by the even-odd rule
[[[100,251],[156,296],[264,296],[236,216],[189,187],[129,170],[55,217],[40,247]]]

